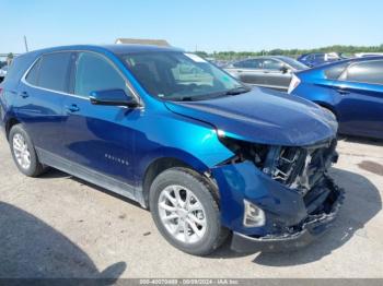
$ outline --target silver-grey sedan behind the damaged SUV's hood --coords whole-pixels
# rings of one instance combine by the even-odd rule
[[[292,74],[307,65],[285,56],[256,57],[233,62],[224,68],[241,82],[287,92]]]

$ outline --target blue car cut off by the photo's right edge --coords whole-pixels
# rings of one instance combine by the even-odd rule
[[[383,57],[299,72],[288,93],[328,109],[339,122],[339,133],[383,139]]]

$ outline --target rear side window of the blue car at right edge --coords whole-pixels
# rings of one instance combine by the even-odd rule
[[[343,78],[350,82],[383,84],[383,60],[351,64]]]

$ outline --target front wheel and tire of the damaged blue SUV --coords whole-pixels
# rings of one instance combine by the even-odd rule
[[[149,204],[161,235],[184,252],[207,255],[228,237],[216,190],[196,171],[171,168],[161,172],[150,188]]]

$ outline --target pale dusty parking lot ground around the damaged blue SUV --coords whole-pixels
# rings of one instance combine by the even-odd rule
[[[1,277],[381,277],[383,142],[343,139],[332,169],[346,189],[335,226],[294,253],[241,255],[229,243],[207,258],[185,254],[150,213],[51,170],[22,176],[0,140]]]

